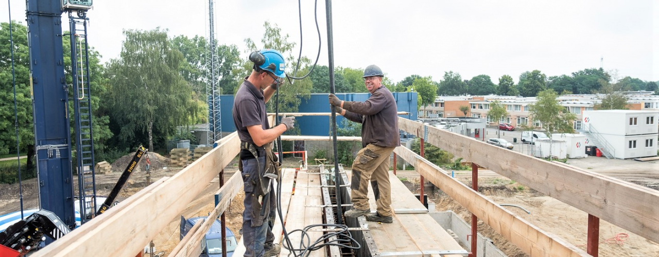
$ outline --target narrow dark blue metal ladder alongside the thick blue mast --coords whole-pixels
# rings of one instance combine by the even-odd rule
[[[76,144],[76,172],[80,224],[96,213],[96,178],[94,177],[94,140],[92,135],[92,101],[90,99],[87,19],[69,12],[71,30],[71,74]]]

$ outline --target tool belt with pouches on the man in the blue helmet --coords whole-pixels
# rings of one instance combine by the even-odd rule
[[[258,165],[258,177],[252,177],[252,183],[254,183],[254,195],[266,195],[270,192],[270,179],[276,177],[277,183],[281,181],[281,162],[279,158],[275,155],[275,152],[272,151],[272,143],[267,143],[263,147],[257,147],[253,143],[241,141],[241,150],[247,150],[252,153],[256,159],[256,164]],[[259,162],[258,150],[262,150],[266,153],[266,163],[262,164]],[[243,162],[238,164],[238,170],[243,172]]]

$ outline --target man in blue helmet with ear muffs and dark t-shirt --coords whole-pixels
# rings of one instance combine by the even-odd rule
[[[279,51],[263,49],[250,54],[252,74],[246,77],[233,102],[233,123],[241,139],[239,170],[245,193],[243,212],[244,256],[279,255],[281,247],[273,244],[276,201],[272,179],[266,177],[272,165],[272,141],[293,129],[295,117],[284,117],[270,128],[266,103],[283,83],[285,62]],[[274,160],[274,162],[277,162]]]

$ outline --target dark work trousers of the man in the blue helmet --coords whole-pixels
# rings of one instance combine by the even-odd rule
[[[272,247],[275,236],[272,233],[273,223],[275,222],[275,213],[277,202],[275,189],[272,185],[270,193],[266,196],[259,197],[254,195],[254,181],[259,177],[259,169],[255,158],[241,160],[243,162],[243,189],[245,198],[243,204],[243,243],[245,245],[246,257],[261,257],[265,254],[264,246]],[[258,164],[265,166],[266,157],[258,157]],[[272,183],[272,182],[269,182]],[[262,206],[265,199],[268,202]],[[264,216],[261,215],[261,208],[266,208]],[[268,247],[268,248],[270,248]]]

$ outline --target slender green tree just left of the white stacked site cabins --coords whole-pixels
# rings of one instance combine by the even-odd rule
[[[530,114],[534,120],[542,124],[550,140],[552,133],[574,133],[573,124],[577,116],[567,111],[565,106],[558,102],[558,94],[553,89],[546,89],[538,93],[536,103],[529,105]],[[552,155],[550,148],[550,158]]]

